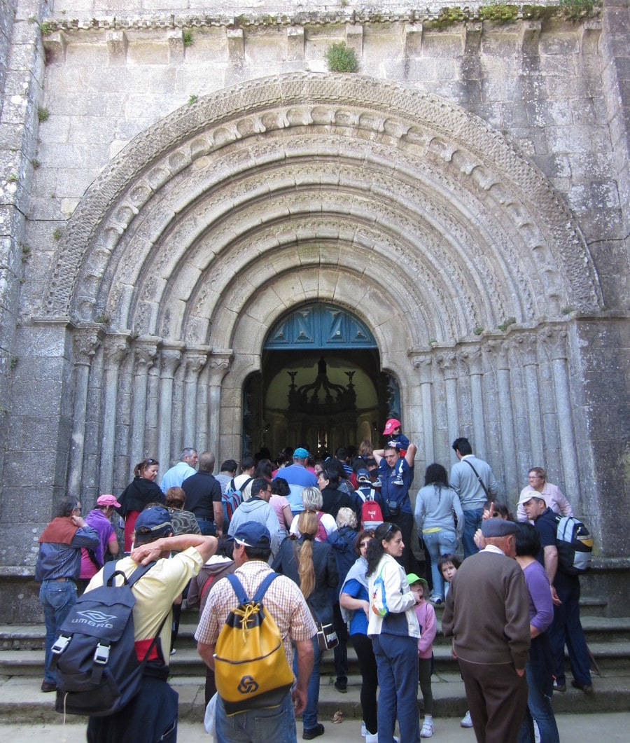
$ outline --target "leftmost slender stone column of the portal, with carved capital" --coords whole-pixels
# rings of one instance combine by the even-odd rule
[[[74,400],[72,404],[68,493],[74,496],[79,496],[81,493],[83,452],[85,450],[85,414],[88,409],[90,367],[102,340],[103,331],[100,328],[74,328],[72,332]]]

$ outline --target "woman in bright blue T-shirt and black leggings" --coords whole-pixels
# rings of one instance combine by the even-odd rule
[[[368,618],[370,601],[366,571],[368,544],[374,538],[374,531],[360,531],[354,540],[354,553],[359,557],[348,570],[341,587],[339,603],[342,617],[348,624],[348,633],[354,652],[357,653],[361,672],[361,710],[363,724],[366,726],[366,740],[377,741],[377,702],[378,675],[372,641],[368,637]]]

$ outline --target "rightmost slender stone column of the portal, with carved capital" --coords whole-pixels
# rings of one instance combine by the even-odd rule
[[[571,392],[567,367],[567,336],[565,330],[548,328],[542,337],[542,345],[548,359],[551,361],[553,374],[553,396],[556,403],[556,421],[560,452],[562,455],[562,473],[565,479],[565,494],[571,505],[576,507],[576,501],[581,502],[577,450],[573,429],[573,409],[571,407]]]

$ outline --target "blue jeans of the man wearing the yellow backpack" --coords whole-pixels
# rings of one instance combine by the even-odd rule
[[[217,698],[215,728],[217,743],[296,743],[293,701],[287,692],[279,707],[249,710],[228,717]]]

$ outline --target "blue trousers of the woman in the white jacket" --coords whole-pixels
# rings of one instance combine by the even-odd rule
[[[418,640],[400,635],[372,638],[378,668],[378,741],[393,743],[398,718],[400,740],[420,743]]]

